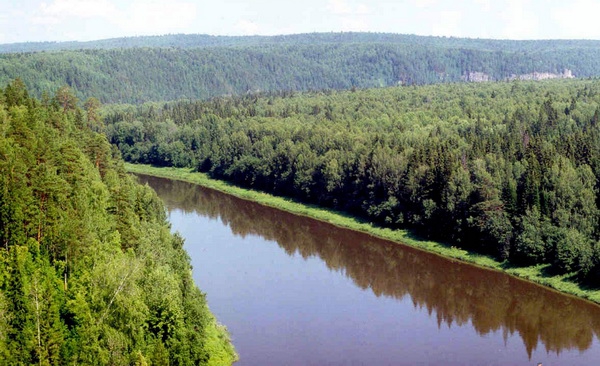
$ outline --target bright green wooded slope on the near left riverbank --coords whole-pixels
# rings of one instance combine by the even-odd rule
[[[2,363],[231,363],[162,203],[77,105],[0,89]]]

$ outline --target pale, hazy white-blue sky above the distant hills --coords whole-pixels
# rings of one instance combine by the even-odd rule
[[[600,39],[600,0],[0,0],[0,43],[371,31]]]

